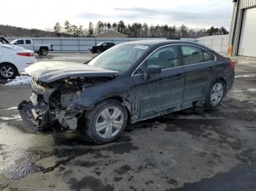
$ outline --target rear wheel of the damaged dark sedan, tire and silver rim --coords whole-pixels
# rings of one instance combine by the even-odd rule
[[[217,107],[222,102],[224,95],[225,82],[223,82],[221,79],[218,79],[211,85],[204,105],[209,108]]]

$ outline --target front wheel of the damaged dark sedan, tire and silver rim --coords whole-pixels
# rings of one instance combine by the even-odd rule
[[[114,141],[127,126],[127,110],[114,99],[103,101],[84,114],[83,132],[87,141],[105,144]]]

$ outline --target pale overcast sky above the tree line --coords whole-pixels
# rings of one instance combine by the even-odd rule
[[[65,20],[87,28],[89,21],[148,23],[149,25],[229,29],[231,0],[2,0],[0,24],[24,28],[53,28]]]

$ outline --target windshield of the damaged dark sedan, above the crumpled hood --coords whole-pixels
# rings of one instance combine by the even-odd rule
[[[119,44],[89,62],[91,66],[115,71],[127,71],[148,50],[148,46]]]

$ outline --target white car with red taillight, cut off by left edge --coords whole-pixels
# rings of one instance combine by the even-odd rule
[[[13,79],[35,61],[34,51],[0,42],[0,78]]]

